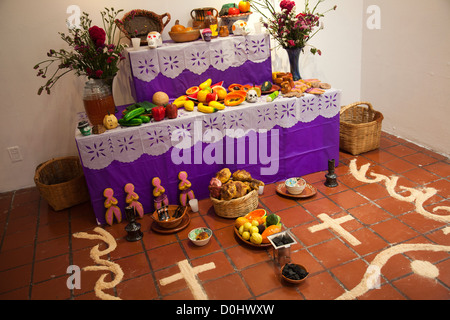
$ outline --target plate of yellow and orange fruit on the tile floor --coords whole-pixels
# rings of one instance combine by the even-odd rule
[[[234,232],[245,244],[253,247],[269,247],[269,236],[281,232],[281,218],[266,210],[256,209],[235,220]]]

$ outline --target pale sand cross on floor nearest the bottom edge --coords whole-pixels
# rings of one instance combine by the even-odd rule
[[[162,286],[165,286],[184,278],[188,284],[189,289],[194,295],[195,300],[208,300],[208,296],[206,295],[203,287],[200,285],[200,282],[197,279],[197,274],[215,269],[216,265],[214,264],[214,262],[192,268],[189,264],[189,261],[183,260],[178,262],[178,267],[180,268],[180,273],[161,279],[159,283]]]

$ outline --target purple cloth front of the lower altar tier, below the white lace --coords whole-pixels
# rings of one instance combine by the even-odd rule
[[[267,140],[263,138],[267,138]],[[277,139],[278,143],[271,145],[271,142],[277,141]],[[267,133],[252,131],[249,135],[238,139],[225,137],[223,141],[218,142],[223,143],[223,150],[228,152],[233,148],[235,152],[234,160],[227,158],[228,155],[224,152],[222,164],[218,163],[220,161],[206,164],[205,159],[198,161],[199,155],[214,155],[214,153],[211,153],[214,143],[208,144],[199,141],[191,149],[185,151],[191,155],[192,161],[197,159],[199,164],[174,164],[172,161],[174,148],[172,147],[160,156],[143,154],[139,159],[130,163],[114,160],[109,166],[101,170],[89,169],[83,165],[98,224],[106,224],[106,210],[103,205],[105,200],[103,190],[106,188],[114,190],[114,197],[118,200],[118,206],[125,217],[124,208],[127,194],[124,191],[124,186],[127,183],[132,183],[135,186],[135,192],[139,195],[138,201],[142,203],[145,213],[148,214],[153,212],[154,207],[151,183],[154,177],[161,179],[161,185],[166,189],[169,203],[178,204],[180,194],[178,173],[180,171],[187,172],[188,180],[192,183],[192,190],[196,198],[204,199],[209,197],[208,185],[211,178],[216,172],[226,167],[232,172],[245,169],[254,178],[262,180],[266,184],[327,170],[329,159],[335,159],[336,164],[339,163],[339,114],[332,118],[319,116],[308,123],[298,122],[291,128],[275,126]],[[258,143],[250,143],[250,141],[258,141]],[[265,141],[268,143],[264,143]],[[239,148],[241,148],[240,143],[243,142],[246,143],[245,150],[247,152],[244,162],[247,164],[238,164],[238,154],[239,156],[242,156],[242,154],[236,151],[242,150]],[[267,145],[267,150],[264,145]],[[272,147],[278,148],[278,159],[271,157],[272,154],[276,154]],[[176,149],[175,151],[178,152],[179,150]],[[262,168],[267,168],[271,171],[270,174],[264,173]]]

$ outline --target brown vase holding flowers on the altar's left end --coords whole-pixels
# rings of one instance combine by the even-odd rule
[[[103,79],[89,79],[86,82],[83,103],[89,122],[93,126],[103,124],[103,118],[116,111],[111,88]]]

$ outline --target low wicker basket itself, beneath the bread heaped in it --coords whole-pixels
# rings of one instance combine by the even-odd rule
[[[238,218],[252,212],[259,205],[258,191],[253,190],[244,197],[233,200],[218,200],[211,197],[214,211],[222,218]]]

